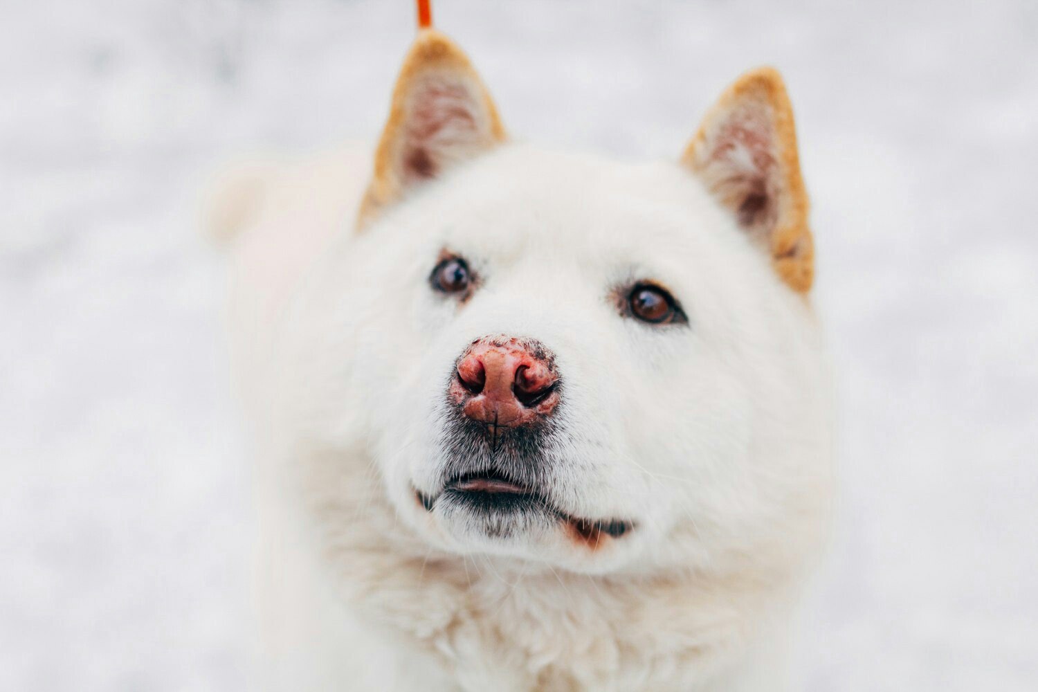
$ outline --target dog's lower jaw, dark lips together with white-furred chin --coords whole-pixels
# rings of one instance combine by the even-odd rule
[[[586,556],[634,529],[626,519],[574,517],[546,493],[495,472],[457,476],[438,493],[415,497],[455,542],[489,553],[546,558],[563,548]]]

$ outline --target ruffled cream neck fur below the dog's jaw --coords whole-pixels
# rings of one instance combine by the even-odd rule
[[[591,576],[430,550],[361,459],[301,465],[318,559],[352,608],[462,690],[735,689],[718,676],[745,667],[789,600],[788,580],[750,568]]]

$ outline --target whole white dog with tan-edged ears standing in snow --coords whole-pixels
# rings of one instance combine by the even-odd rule
[[[789,689],[830,493],[807,213],[772,70],[628,165],[512,142],[433,30],[374,162],[225,184],[263,685]]]

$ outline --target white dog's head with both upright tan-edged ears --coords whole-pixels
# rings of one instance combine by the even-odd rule
[[[325,297],[351,333],[340,404],[410,530],[588,573],[803,536],[826,397],[776,73],[738,80],[680,161],[634,166],[510,142],[425,31],[358,226]]]

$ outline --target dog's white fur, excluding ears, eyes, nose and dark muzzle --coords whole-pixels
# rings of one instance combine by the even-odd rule
[[[678,164],[507,144],[356,233],[368,170],[360,149],[268,170],[234,250],[268,687],[789,689],[829,496],[805,299]],[[444,248],[484,277],[462,306],[428,283]],[[641,278],[687,328],[619,314]],[[562,508],[629,534],[491,539],[415,501],[455,360],[498,333],[557,357]]]

